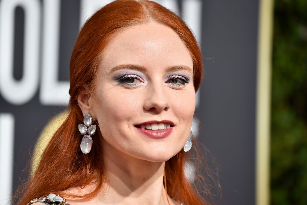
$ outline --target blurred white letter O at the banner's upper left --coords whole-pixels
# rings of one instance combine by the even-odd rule
[[[14,19],[17,6],[25,11],[23,76],[19,81],[13,76]],[[6,101],[14,105],[28,102],[38,88],[40,9],[38,0],[0,1],[0,92]]]

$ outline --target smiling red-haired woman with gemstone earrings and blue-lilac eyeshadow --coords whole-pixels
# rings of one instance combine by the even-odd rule
[[[201,77],[173,12],[147,0],[98,10],[72,53],[68,117],[18,204],[208,204],[184,174]]]

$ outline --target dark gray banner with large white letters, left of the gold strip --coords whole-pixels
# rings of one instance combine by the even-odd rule
[[[0,0],[0,204],[25,179],[42,129],[68,104],[78,31],[107,0]],[[204,79],[196,137],[218,160],[226,204],[255,204],[259,1],[160,0],[193,30]],[[199,121],[199,123],[197,123]]]

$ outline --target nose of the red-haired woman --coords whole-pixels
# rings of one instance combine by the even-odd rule
[[[144,109],[147,111],[167,111],[170,108],[169,93],[167,88],[162,84],[151,84],[149,89],[146,90],[146,100]]]

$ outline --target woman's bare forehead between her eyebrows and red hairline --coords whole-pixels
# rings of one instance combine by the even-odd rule
[[[102,53],[105,71],[120,64],[156,70],[173,65],[193,68],[192,57],[175,31],[160,24],[132,26],[115,34]]]

